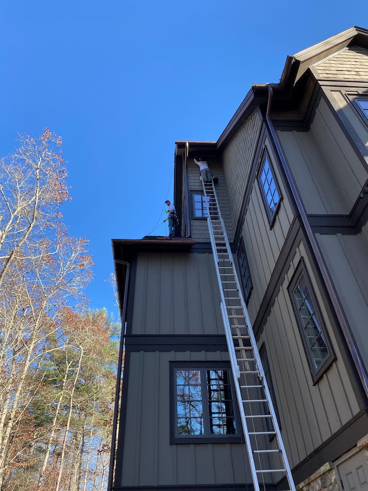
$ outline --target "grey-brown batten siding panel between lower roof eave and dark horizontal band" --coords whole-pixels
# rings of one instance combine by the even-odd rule
[[[212,254],[139,252],[130,334],[224,334]]]

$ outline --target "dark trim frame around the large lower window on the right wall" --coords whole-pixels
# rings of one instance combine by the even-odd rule
[[[328,355],[326,356],[325,360],[323,361],[323,363],[321,364],[321,366],[317,370],[315,370],[315,367],[313,366],[313,361],[311,359],[310,350],[308,347],[307,340],[305,338],[304,327],[301,324],[299,313],[298,313],[298,308],[295,304],[295,300],[294,300],[294,296],[293,296],[293,290],[294,290],[295,286],[297,285],[297,283],[299,282],[302,275],[304,275],[305,281],[308,285],[309,294],[313,300],[314,307],[315,307],[315,314],[316,314],[316,317],[318,319],[319,325],[321,327],[321,331],[322,331],[323,336],[324,336],[324,342],[325,342],[325,345],[326,345],[326,348],[328,351]],[[303,349],[304,349],[304,352],[305,352],[305,355],[307,358],[307,362],[308,362],[309,370],[311,373],[313,385],[315,385],[319,382],[319,380],[325,374],[325,372],[330,368],[331,364],[335,361],[336,356],[335,356],[334,350],[332,348],[330,337],[328,335],[328,331],[326,328],[326,324],[324,322],[323,315],[322,315],[321,309],[319,307],[319,303],[318,303],[316,295],[315,295],[315,290],[313,288],[313,285],[312,285],[312,282],[311,282],[311,279],[310,279],[310,276],[308,274],[308,270],[306,267],[306,263],[305,263],[303,257],[300,258],[300,261],[299,261],[297,267],[295,268],[295,271],[294,271],[294,273],[290,279],[290,282],[288,285],[288,293],[289,293],[289,298],[290,298],[291,305],[292,305],[292,310],[294,312],[294,316],[295,316],[296,323],[298,326],[299,334],[300,334],[300,337],[302,340]]]

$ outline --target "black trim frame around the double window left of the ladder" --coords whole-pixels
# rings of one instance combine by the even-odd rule
[[[229,361],[170,361],[170,444],[190,444],[190,443],[240,443],[244,442],[244,437],[241,428],[241,422],[239,417],[239,411],[237,407],[237,397],[235,392],[235,385],[233,380],[233,374]],[[193,369],[198,370],[201,368],[214,369],[214,370],[229,370],[230,384],[233,396],[234,415],[237,427],[237,433],[234,435],[190,435],[190,436],[177,436],[176,435],[176,370],[178,369]]]

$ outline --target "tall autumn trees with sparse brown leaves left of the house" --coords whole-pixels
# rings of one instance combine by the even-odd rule
[[[0,161],[0,491],[103,490],[116,326],[88,310],[88,242],[60,213],[61,138],[19,143]]]

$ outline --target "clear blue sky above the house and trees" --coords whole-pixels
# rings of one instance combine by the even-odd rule
[[[48,127],[62,136],[73,198],[62,212],[70,234],[90,241],[92,307],[115,312],[111,239],[140,239],[155,226],[174,141],[216,140],[251,83],[278,82],[287,55],[348,27],[368,28],[366,6],[2,2],[0,155],[21,133]]]

